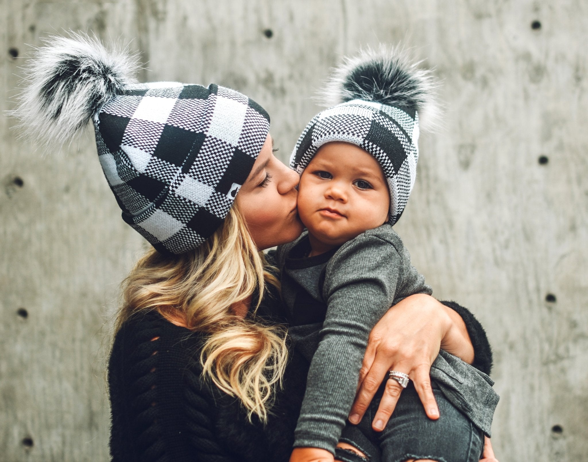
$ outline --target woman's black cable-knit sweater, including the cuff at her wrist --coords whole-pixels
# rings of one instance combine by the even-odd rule
[[[279,303],[266,299],[273,307],[262,306],[263,322],[279,322]],[[482,326],[465,308],[446,304],[466,322],[475,366],[489,372],[492,353]],[[249,423],[236,399],[202,379],[202,341],[203,334],[175,326],[156,312],[136,314],[116,334],[108,369],[113,461],[288,461],[306,360],[290,351],[284,388],[263,426],[256,419]]]

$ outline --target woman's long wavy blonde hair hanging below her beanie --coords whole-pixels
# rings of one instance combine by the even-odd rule
[[[250,236],[236,206],[225,223],[198,249],[164,256],[149,250],[123,282],[123,306],[116,330],[138,311],[155,309],[171,322],[205,332],[203,376],[262,421],[268,418],[276,386],[288,360],[285,331],[236,316],[232,306],[279,286]]]

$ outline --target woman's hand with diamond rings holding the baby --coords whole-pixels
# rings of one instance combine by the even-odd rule
[[[427,416],[439,419],[429,371],[441,346],[472,363],[472,342],[459,314],[425,294],[406,297],[390,308],[370,333],[349,421],[359,423],[389,370],[408,374]],[[401,392],[397,381],[386,381],[372,422],[374,430],[380,431],[386,426]]]

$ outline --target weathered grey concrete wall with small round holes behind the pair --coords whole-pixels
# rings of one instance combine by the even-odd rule
[[[0,9],[1,110],[12,108],[25,44],[92,31],[132,40],[143,80],[216,82],[262,103],[282,159],[340,56],[379,41],[416,46],[444,81],[446,130],[422,138],[397,229],[435,294],[487,328],[500,460],[588,460],[586,2],[0,0]],[[0,118],[0,461],[108,460],[109,329],[118,284],[145,243],[119,217],[90,132],[42,158],[11,125]]]

